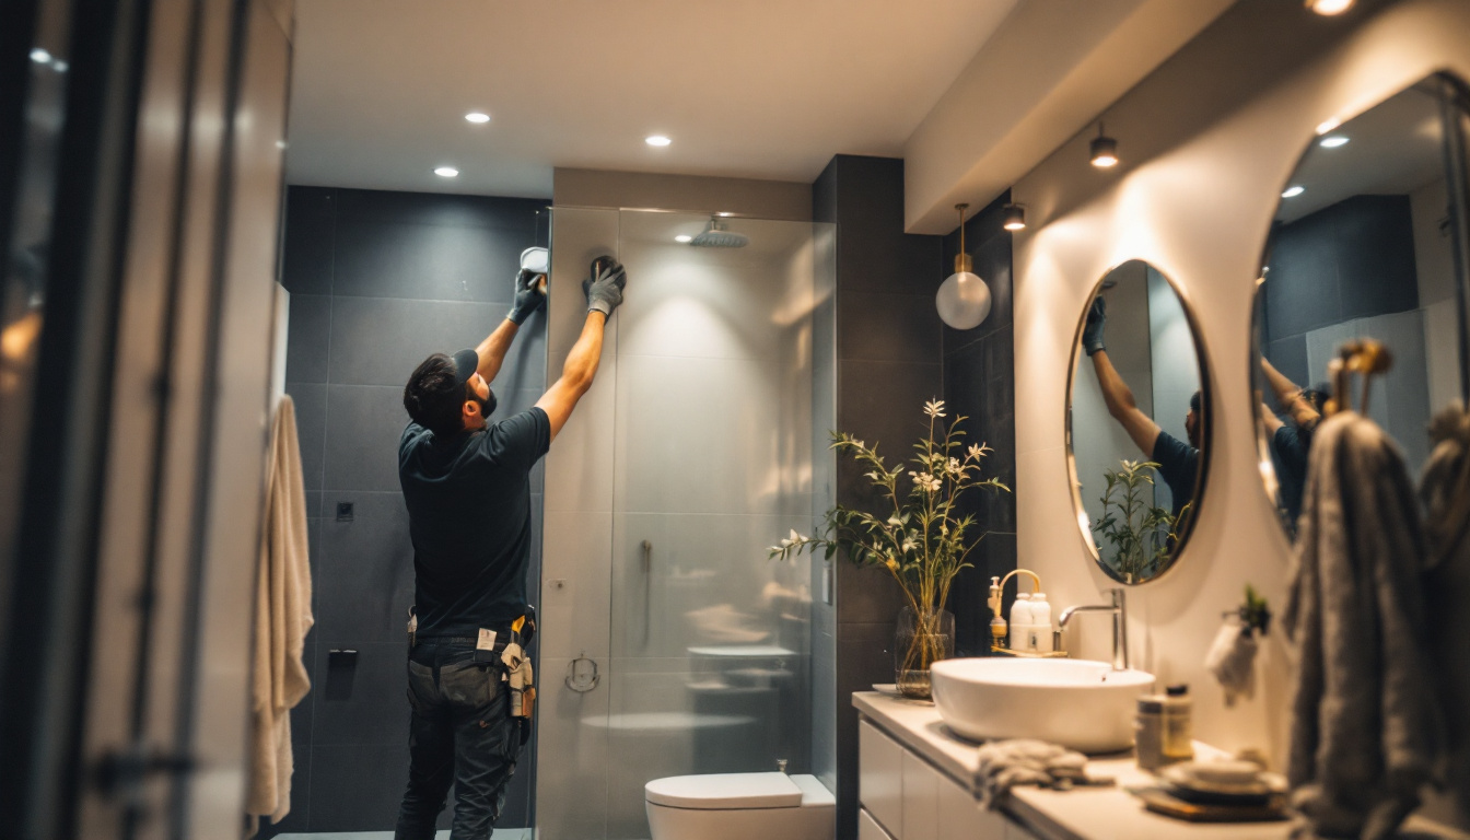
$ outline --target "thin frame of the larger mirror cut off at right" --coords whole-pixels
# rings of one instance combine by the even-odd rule
[[[1335,125],[1327,131],[1313,131],[1313,134],[1302,141],[1302,152],[1297,156],[1297,163],[1292,165],[1291,172],[1286,175],[1286,179],[1282,181],[1282,187],[1277,193],[1285,190],[1295,179],[1302,163],[1317,147],[1319,137],[1330,134],[1339,125],[1347,125],[1396,96],[1414,88],[1429,88],[1432,85],[1436,90],[1424,90],[1424,93],[1438,100],[1441,127],[1446,129],[1441,140],[1441,153],[1444,156],[1441,174],[1445,179],[1445,193],[1449,207],[1454,210],[1449,216],[1449,250],[1455,282],[1455,315],[1458,321],[1460,388],[1461,399],[1466,399],[1470,396],[1470,146],[1467,146],[1467,143],[1470,143],[1470,135],[1448,131],[1448,127],[1452,122],[1454,115],[1458,115],[1463,122],[1470,122],[1470,84],[1448,69],[1439,69],[1430,72],[1419,81],[1394,90],[1379,100],[1364,104],[1352,113],[1338,118]],[[1277,199],[1277,206],[1280,202],[1282,199]],[[1276,213],[1273,212],[1272,218],[1274,219],[1274,216]],[[1282,535],[1286,537],[1288,543],[1292,543],[1295,541],[1294,524],[1288,521],[1286,513],[1277,505],[1280,480],[1276,475],[1276,463],[1272,460],[1270,434],[1266,431],[1264,419],[1257,410],[1254,410],[1257,405],[1255,390],[1260,384],[1260,365],[1261,359],[1266,357],[1261,346],[1261,315],[1264,309],[1261,296],[1266,291],[1266,268],[1272,262],[1273,229],[1274,224],[1266,229],[1266,241],[1261,246],[1258,263],[1260,271],[1257,271],[1257,275],[1252,280],[1250,325],[1251,340],[1247,343],[1250,353],[1250,357],[1247,359],[1247,381],[1250,382],[1247,397],[1251,400],[1251,422],[1255,427],[1257,463],[1258,474],[1261,477],[1260,487],[1266,503],[1270,505],[1276,513],[1274,518],[1282,528]],[[1467,405],[1470,405],[1470,400],[1467,400]],[[1433,413],[1435,406],[1430,406],[1430,416]],[[1414,466],[1417,465],[1410,465],[1410,469]]]

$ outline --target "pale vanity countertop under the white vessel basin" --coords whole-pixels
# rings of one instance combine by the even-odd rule
[[[853,705],[858,712],[906,747],[925,758],[945,775],[975,793],[979,769],[976,744],[951,734],[939,711],[928,700],[908,700],[878,691],[857,691]],[[1211,758],[1222,750],[1195,741],[1195,755]],[[1155,784],[1154,777],[1138,769],[1132,755],[1119,753],[1088,761],[1088,775],[1113,777],[1114,787],[1080,787],[1070,791],[1025,786],[1011,790],[1005,814],[1047,840],[1286,840],[1291,822],[1183,822],[1147,811],[1129,786]],[[1470,840],[1452,831],[1413,818],[1405,828],[1416,837]]]

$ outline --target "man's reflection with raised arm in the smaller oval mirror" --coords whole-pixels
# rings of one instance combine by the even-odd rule
[[[1082,327],[1082,349],[1092,359],[1092,371],[1098,377],[1098,387],[1102,388],[1107,413],[1113,415],[1148,460],[1158,465],[1158,475],[1173,496],[1170,513],[1177,519],[1185,506],[1194,502],[1195,478],[1200,475],[1200,391],[1189,397],[1189,412],[1185,415],[1188,443],[1158,428],[1154,418],[1138,407],[1133,390],[1108,359],[1107,347],[1102,344],[1105,325],[1107,300],[1100,294],[1088,307],[1088,319]]]

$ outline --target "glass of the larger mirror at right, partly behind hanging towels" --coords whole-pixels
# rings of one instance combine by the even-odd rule
[[[1430,419],[1470,390],[1464,213],[1455,209],[1464,203],[1461,91],[1432,76],[1322,127],[1283,185],[1257,281],[1254,397],[1261,475],[1288,535],[1332,396],[1327,365],[1344,344],[1388,347],[1392,363],[1374,377],[1367,415],[1416,478],[1432,449]]]

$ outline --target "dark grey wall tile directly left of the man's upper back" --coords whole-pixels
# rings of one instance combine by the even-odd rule
[[[403,385],[328,385],[322,488],[332,515],[334,491],[398,485],[398,438],[409,424]]]

